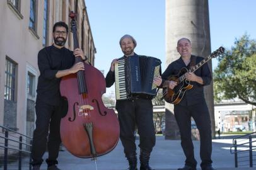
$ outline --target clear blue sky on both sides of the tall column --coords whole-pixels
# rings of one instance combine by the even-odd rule
[[[125,34],[137,41],[135,52],[165,63],[165,0],[85,0],[96,47],[95,67],[107,74],[113,59],[121,57],[119,40]],[[211,50],[230,49],[247,33],[256,39],[255,0],[209,0]],[[167,47],[168,48],[168,47]],[[216,67],[214,59],[212,67]],[[165,65],[163,64],[163,71]]]

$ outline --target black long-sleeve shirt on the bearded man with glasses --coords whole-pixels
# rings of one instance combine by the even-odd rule
[[[71,50],[51,45],[38,52],[38,68],[40,76],[37,84],[37,99],[49,105],[60,103],[59,85],[61,78],[55,77],[58,71],[69,69],[74,65],[75,57]]]

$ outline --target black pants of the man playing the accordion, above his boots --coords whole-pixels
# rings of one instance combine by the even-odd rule
[[[116,108],[119,113],[120,139],[125,156],[136,153],[134,128],[137,125],[139,147],[151,152],[156,144],[153,123],[153,105],[150,99],[118,100]]]

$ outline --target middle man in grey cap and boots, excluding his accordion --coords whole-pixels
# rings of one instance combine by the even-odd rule
[[[124,56],[120,59],[127,59],[134,53],[137,43],[131,35],[124,35],[120,38],[120,47]],[[115,64],[118,59],[114,59],[111,63],[110,71],[106,76],[106,86],[110,88],[115,82]],[[125,157],[129,162],[129,170],[137,170],[136,144],[134,138],[134,130],[137,125],[139,133],[139,147],[141,170],[153,170],[149,166],[149,157],[156,142],[153,124],[153,105],[149,98],[134,97],[129,99],[117,99],[115,108],[119,115],[120,123],[120,140],[124,146]]]

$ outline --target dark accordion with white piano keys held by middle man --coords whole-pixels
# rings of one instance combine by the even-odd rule
[[[144,55],[122,57],[115,64],[116,99],[132,96],[152,99],[157,91],[154,77],[161,74],[161,60]]]

